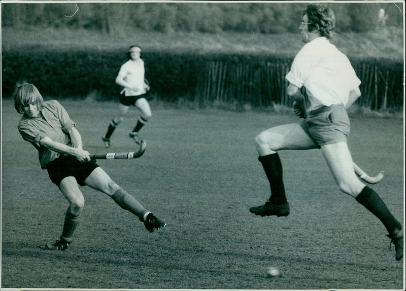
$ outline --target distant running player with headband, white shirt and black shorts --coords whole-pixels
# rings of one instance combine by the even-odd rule
[[[120,92],[120,105],[118,115],[112,119],[103,136],[106,148],[110,148],[110,138],[117,126],[124,120],[129,106],[136,106],[141,111],[141,116],[136,126],[129,133],[137,144],[142,145],[145,140],[140,139],[138,133],[151,118],[151,108],[146,99],[150,90],[148,81],[145,79],[144,61],[141,58],[141,47],[133,45],[127,51],[128,60],[121,66],[116,77],[116,84],[124,87]],[[144,145],[145,146],[145,145]]]

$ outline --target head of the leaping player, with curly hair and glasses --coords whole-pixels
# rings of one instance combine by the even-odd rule
[[[331,6],[326,4],[310,4],[303,11],[309,18],[309,31],[319,30],[322,37],[329,39],[330,31],[335,27],[335,16]]]

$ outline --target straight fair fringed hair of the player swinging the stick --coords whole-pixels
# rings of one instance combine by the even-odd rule
[[[24,113],[24,107],[32,101],[35,101],[38,110],[42,110],[44,99],[37,87],[29,84],[27,81],[18,81],[13,93],[14,107],[18,113]]]

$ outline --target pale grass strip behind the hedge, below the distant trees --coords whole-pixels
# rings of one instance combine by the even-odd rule
[[[331,40],[343,53],[352,58],[384,58],[402,60],[403,30],[388,27],[367,33],[334,33]],[[144,50],[285,54],[294,56],[303,43],[295,33],[161,33],[130,29],[106,34],[91,30],[26,27],[2,28],[3,48],[43,46],[47,49],[70,50],[94,48],[95,50],[125,50],[131,44],[139,44]]]

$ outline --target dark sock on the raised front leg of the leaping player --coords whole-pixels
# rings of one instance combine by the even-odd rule
[[[270,185],[270,198],[272,204],[280,205],[288,201],[285,196],[285,187],[282,178],[282,163],[278,153],[259,157]]]

